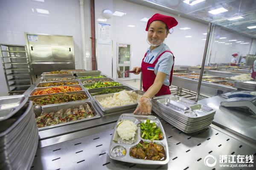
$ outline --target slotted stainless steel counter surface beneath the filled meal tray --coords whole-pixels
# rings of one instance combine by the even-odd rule
[[[166,133],[170,161],[166,165],[142,165],[112,160],[109,146],[116,123],[81,130],[39,141],[31,170],[120,170],[120,169],[172,169],[172,170],[225,170],[219,167],[220,155],[254,155],[255,143],[247,143],[215,125],[197,133],[186,134],[159,117]],[[215,167],[207,167],[204,158],[215,156]],[[254,164],[255,166],[255,161]],[[244,168],[241,168],[245,170]]]

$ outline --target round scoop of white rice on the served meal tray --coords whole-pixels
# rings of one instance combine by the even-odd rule
[[[120,138],[124,140],[134,139],[136,134],[137,126],[130,120],[125,120],[119,124],[116,131]]]

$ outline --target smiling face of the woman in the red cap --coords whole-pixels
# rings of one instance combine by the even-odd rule
[[[157,48],[168,36],[169,31],[167,31],[166,24],[162,21],[153,21],[148,28],[148,41],[152,45],[156,45],[156,47],[152,46],[152,50]]]

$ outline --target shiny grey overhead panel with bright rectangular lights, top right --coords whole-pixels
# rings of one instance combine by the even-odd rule
[[[171,14],[180,15],[201,23],[211,22],[224,28],[229,28],[247,37],[256,38],[256,0],[204,0],[193,6],[184,0],[127,0],[150,8],[156,8]],[[187,0],[193,3],[196,0]],[[194,2],[195,3],[195,2]],[[227,11],[211,14],[208,11],[225,8]],[[228,20],[242,17],[236,20]]]

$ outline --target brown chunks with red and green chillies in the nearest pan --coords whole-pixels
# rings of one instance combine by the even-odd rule
[[[38,127],[45,127],[90,118],[93,116],[92,109],[87,103],[85,103],[84,105],[80,105],[78,108],[68,108],[66,111],[60,109],[57,112],[42,113],[41,116],[36,118],[36,122]]]

